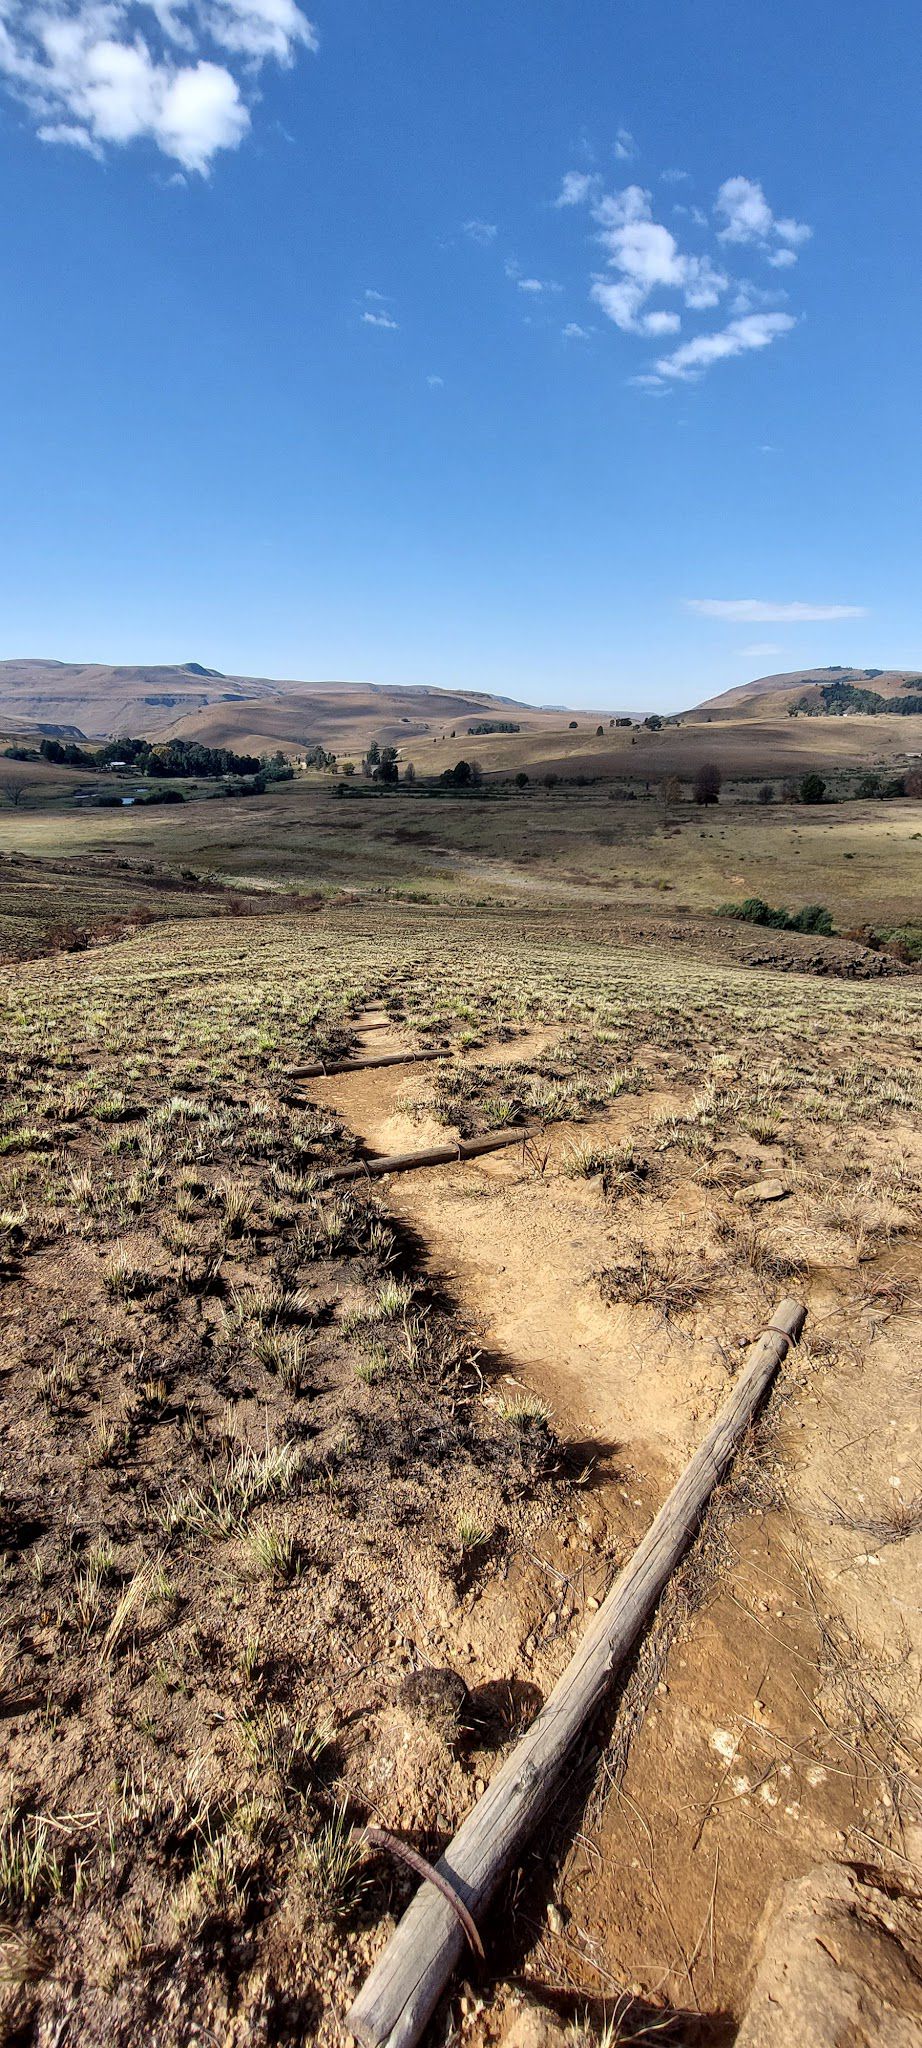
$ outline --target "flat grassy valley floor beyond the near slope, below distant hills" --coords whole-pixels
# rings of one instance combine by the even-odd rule
[[[0,809],[0,946],[43,950],[55,924],[92,932],[209,915],[234,895],[252,893],[258,907],[266,891],[565,905],[615,920],[643,911],[672,926],[760,895],[789,909],[826,903],[838,932],[918,922],[918,801],[762,807],[729,791],[715,809],[664,813],[658,782],[637,786],[633,799],[606,784],[336,797],[328,780],[303,776],[262,799],[74,811],[51,780],[35,805]],[[721,944],[742,944],[740,934]]]

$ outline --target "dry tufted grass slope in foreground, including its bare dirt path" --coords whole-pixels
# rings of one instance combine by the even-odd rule
[[[807,1343],[441,2038],[518,1978],[725,2042],[777,1880],[912,1890],[920,983],[623,942],[547,868],[535,909],[367,889],[4,975],[10,2042],[340,2044],[408,1896],[363,1825],[441,1849],[779,1290]],[[441,1057],[287,1077],[367,1006]]]

